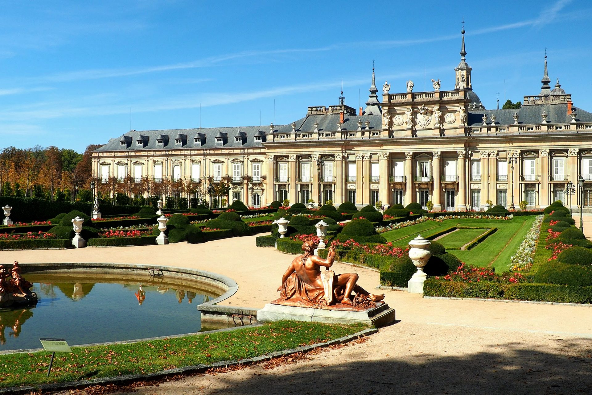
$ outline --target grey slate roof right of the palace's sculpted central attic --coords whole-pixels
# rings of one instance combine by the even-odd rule
[[[572,107],[574,109],[575,107]],[[518,113],[518,123],[525,125],[537,125],[542,123],[540,116],[543,111],[547,114],[548,124],[566,124],[571,122],[571,116],[567,114],[566,104],[542,104],[542,105],[523,105],[517,110],[481,110],[468,112],[468,126],[478,127],[483,124],[483,114],[487,114],[487,123],[491,123],[491,115],[496,114],[497,126],[508,126],[514,124],[514,113]],[[592,114],[581,108],[576,108],[575,113],[578,122],[592,122]]]

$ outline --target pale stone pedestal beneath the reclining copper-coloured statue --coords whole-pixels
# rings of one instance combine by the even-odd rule
[[[395,321],[395,310],[388,304],[378,302],[378,306],[369,310],[329,310],[313,309],[311,307],[284,306],[268,303],[257,311],[257,322],[266,321],[307,321],[335,324],[365,323],[368,326],[386,326]]]

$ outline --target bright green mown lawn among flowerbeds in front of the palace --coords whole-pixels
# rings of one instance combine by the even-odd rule
[[[483,240],[475,248],[469,251],[450,250],[449,252],[458,256],[466,264],[473,266],[491,265],[496,269],[496,272],[503,272],[509,269],[510,257],[514,255],[518,246],[524,240],[524,236],[532,226],[532,221],[534,220],[535,216],[517,216],[511,220],[461,218],[444,220],[443,222],[426,221],[413,226],[390,230],[389,232],[382,233],[382,236],[394,245],[405,247],[418,233],[423,237],[431,237],[436,235],[436,233],[454,226],[497,227],[498,230],[496,233],[487,237],[487,239]],[[462,235],[459,231],[454,232],[450,235],[451,239],[453,239],[453,235],[456,235],[456,233],[458,233],[459,237]],[[445,237],[442,237],[443,239]]]

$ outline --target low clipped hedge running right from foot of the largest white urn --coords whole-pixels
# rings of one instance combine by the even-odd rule
[[[460,282],[428,278],[423,285],[423,296],[592,303],[592,287],[530,282]]]

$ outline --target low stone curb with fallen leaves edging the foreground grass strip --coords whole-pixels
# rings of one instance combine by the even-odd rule
[[[233,328],[234,329],[234,328]],[[259,357],[253,357],[249,359],[240,359],[239,361],[219,361],[214,362],[213,364],[209,365],[194,365],[194,366],[186,366],[182,368],[175,368],[169,370],[161,370],[157,372],[152,372],[149,374],[127,374],[117,377],[103,377],[97,378],[96,380],[79,380],[79,381],[70,381],[69,383],[55,383],[55,384],[41,384],[38,387],[34,386],[27,386],[27,387],[9,387],[9,388],[1,388],[0,395],[21,395],[21,394],[29,394],[37,389],[41,391],[65,391],[65,390],[81,390],[82,388],[90,387],[90,386],[107,386],[108,384],[115,384],[118,386],[122,386],[125,384],[134,383],[135,381],[141,380],[160,380],[165,377],[170,377],[179,374],[195,374],[207,371],[208,369],[213,368],[225,368],[230,366],[236,365],[248,365],[248,364],[256,364],[262,361],[268,361],[272,358],[277,357],[284,357],[285,355],[295,354],[297,352],[308,352],[318,347],[325,347],[340,343],[348,343],[354,341],[355,339],[363,338],[364,336],[369,336],[374,333],[377,333],[377,328],[368,328],[361,330],[360,332],[353,333],[352,335],[343,336],[339,339],[333,339],[328,342],[324,343],[316,343],[308,346],[300,346],[297,348],[292,349],[285,349],[282,351],[274,351],[270,352],[269,354],[260,355]]]

